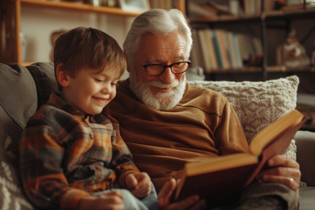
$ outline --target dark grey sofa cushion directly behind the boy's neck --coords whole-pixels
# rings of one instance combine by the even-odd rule
[[[37,90],[38,105],[37,109],[48,101],[52,92],[58,91],[55,79],[54,65],[52,62],[37,62],[26,66],[31,73]]]

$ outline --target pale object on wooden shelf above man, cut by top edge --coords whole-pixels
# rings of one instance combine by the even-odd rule
[[[145,12],[150,9],[148,0],[119,0],[120,8],[126,12]]]

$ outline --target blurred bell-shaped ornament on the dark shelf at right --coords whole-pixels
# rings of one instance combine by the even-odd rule
[[[288,67],[310,64],[304,46],[298,42],[295,29],[291,29],[284,43],[277,47],[277,64]]]

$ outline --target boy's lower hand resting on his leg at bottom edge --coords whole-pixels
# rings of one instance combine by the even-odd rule
[[[83,197],[78,203],[78,210],[124,210],[124,196],[117,190],[100,196]]]

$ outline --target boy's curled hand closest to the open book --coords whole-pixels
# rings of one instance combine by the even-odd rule
[[[145,172],[128,174],[125,184],[137,198],[145,197],[151,192],[151,179]]]

